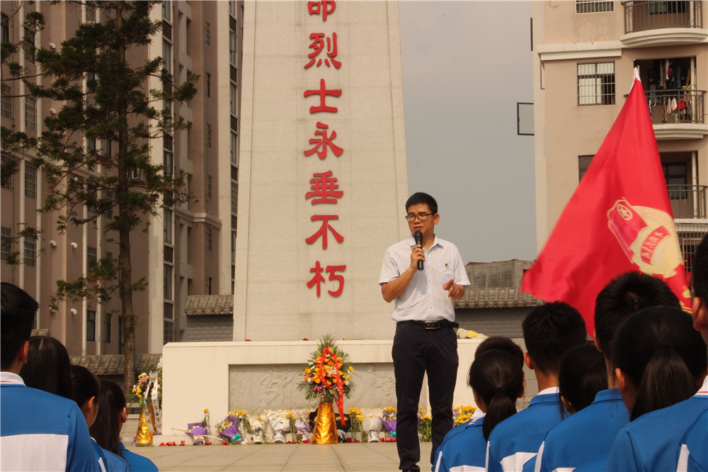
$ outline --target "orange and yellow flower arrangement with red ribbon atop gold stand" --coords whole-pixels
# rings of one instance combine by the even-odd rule
[[[307,361],[302,371],[304,380],[297,388],[305,391],[307,400],[336,403],[343,424],[344,397],[349,398],[354,388],[351,379],[353,371],[349,355],[337,346],[330,335],[326,335],[319,340],[316,351]]]

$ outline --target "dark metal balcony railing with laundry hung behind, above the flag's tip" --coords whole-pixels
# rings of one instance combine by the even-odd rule
[[[651,123],[704,123],[704,90],[649,90],[646,103]]]

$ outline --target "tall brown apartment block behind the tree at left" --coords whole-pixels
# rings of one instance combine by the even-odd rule
[[[3,41],[25,41],[49,50],[61,48],[81,23],[107,19],[103,9],[79,2],[3,1],[0,8]],[[45,16],[45,28],[36,33],[23,30],[24,18],[31,11]],[[152,142],[152,162],[164,164],[165,173],[186,174],[194,198],[149,216],[147,232],[136,230],[132,235],[134,279],[147,281],[147,288],[133,295],[137,354],[159,353],[166,342],[184,338],[188,296],[233,293],[242,17],[243,6],[238,1],[164,0],[150,15],[153,21],[161,21],[161,31],[151,44],[130,51],[130,61],[136,64],[162,57],[176,85],[198,76],[198,94],[193,100],[162,105],[171,108],[174,118],[190,123],[188,128]],[[37,70],[27,51],[20,52],[18,60],[33,77]],[[20,81],[6,80],[7,72],[3,67],[3,81],[11,89],[2,97],[2,125],[40,137],[44,118],[55,116],[62,103],[30,98]],[[30,80],[50,83],[41,75]],[[145,89],[171,86],[154,78]],[[85,141],[86,147],[115,152],[110,141]],[[108,303],[62,300],[57,310],[49,308],[56,281],[76,279],[103,257],[118,257],[114,241],[118,235],[105,230],[117,210],[101,215],[96,223],[57,231],[56,214],[37,212],[47,195],[47,184],[42,167],[33,165],[34,157],[32,149],[3,152],[3,159],[16,159],[19,165],[0,190],[2,252],[4,256],[19,252],[23,264],[3,262],[1,279],[16,283],[38,300],[36,327],[62,341],[70,355],[120,354],[118,293]],[[86,172],[79,169],[76,176],[81,178]],[[24,227],[37,227],[40,236],[36,240],[14,238]]]

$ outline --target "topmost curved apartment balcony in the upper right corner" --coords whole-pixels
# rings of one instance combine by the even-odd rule
[[[623,1],[622,47],[702,44],[708,41],[701,0]]]

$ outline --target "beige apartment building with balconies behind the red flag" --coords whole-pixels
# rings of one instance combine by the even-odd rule
[[[535,1],[537,245],[544,246],[639,69],[687,271],[708,232],[706,1]]]

